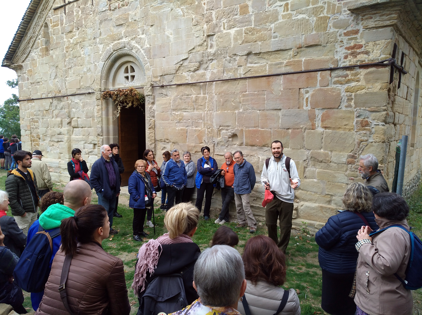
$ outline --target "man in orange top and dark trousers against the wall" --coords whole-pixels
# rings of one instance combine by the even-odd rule
[[[233,166],[236,164],[233,160],[232,152],[226,152],[224,155],[226,163],[221,166],[221,172],[224,175],[225,186],[221,188],[221,199],[223,201],[220,215],[214,221],[216,224],[225,224],[229,222],[229,206],[230,202],[235,199],[235,190],[233,183],[235,181],[235,174],[233,173]]]

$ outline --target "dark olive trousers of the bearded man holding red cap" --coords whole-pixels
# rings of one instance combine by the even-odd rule
[[[265,207],[265,224],[268,236],[276,242],[280,250],[286,253],[292,231],[293,203],[285,202],[274,197]],[[277,219],[280,220],[280,238],[277,236]]]

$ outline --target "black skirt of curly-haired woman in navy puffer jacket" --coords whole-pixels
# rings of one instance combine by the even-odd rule
[[[336,274],[322,270],[321,307],[332,315],[354,315],[356,304],[349,297],[354,273]]]

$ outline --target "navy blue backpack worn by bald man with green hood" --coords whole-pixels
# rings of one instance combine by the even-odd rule
[[[44,290],[50,275],[50,259],[53,254],[52,238],[60,235],[60,227],[51,232],[43,227],[31,238],[16,264],[13,277],[24,291],[36,293]]]

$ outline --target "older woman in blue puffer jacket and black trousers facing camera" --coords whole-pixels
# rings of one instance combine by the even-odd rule
[[[154,205],[150,200],[157,197],[151,177],[145,172],[148,166],[145,160],[135,162],[135,171],[129,177],[128,191],[130,194],[129,207],[133,208],[133,239],[141,242],[142,237],[148,237],[148,233],[143,232],[143,223],[145,222],[146,210]]]

